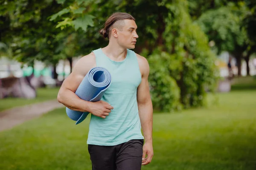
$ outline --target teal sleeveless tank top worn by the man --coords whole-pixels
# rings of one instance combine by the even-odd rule
[[[141,74],[136,54],[127,49],[125,59],[116,62],[101,48],[93,52],[96,66],[106,68],[111,74],[111,85],[102,100],[111,104],[113,110],[105,119],[91,114],[87,144],[113,146],[131,139],[144,139],[137,105]]]

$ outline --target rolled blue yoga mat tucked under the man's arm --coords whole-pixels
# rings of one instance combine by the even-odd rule
[[[102,99],[105,91],[111,85],[111,74],[107,69],[102,67],[94,67],[86,74],[75,94],[81,99],[97,102]],[[73,111],[66,108],[67,116],[76,121],[76,125],[81,123],[89,114],[89,112]]]

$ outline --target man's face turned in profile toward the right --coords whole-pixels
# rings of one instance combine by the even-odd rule
[[[134,49],[136,39],[139,37],[136,32],[137,25],[134,20],[124,20],[124,22],[122,31],[118,30],[117,42],[124,48]]]

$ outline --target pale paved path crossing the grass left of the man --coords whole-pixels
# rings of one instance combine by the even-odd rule
[[[2,111],[0,112],[0,131],[11,129],[27,120],[61,107],[64,107],[64,105],[60,104],[57,100],[49,100]]]

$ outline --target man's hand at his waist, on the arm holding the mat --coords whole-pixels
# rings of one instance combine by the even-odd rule
[[[113,107],[102,100],[99,100],[98,102],[91,102],[89,105],[89,112],[92,113],[94,116],[98,116],[103,119],[105,119],[106,116],[109,115],[111,109],[113,109]]]

